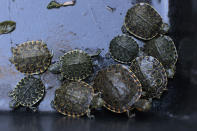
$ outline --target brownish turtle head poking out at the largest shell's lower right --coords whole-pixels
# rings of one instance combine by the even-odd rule
[[[146,112],[151,109],[152,100],[139,99],[134,106],[138,111]]]

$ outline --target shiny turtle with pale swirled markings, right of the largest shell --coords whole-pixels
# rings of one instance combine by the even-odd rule
[[[131,70],[142,84],[147,98],[160,98],[167,86],[167,75],[163,65],[152,56],[140,56],[131,63]]]

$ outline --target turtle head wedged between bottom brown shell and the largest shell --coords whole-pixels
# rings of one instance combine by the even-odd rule
[[[101,93],[98,92],[98,93],[94,94],[94,97],[93,97],[93,100],[92,100],[92,103],[91,103],[91,108],[99,109],[103,105],[104,105],[104,101],[101,98]]]

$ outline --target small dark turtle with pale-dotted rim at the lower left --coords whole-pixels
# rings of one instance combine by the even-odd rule
[[[15,109],[21,105],[36,111],[37,107],[34,105],[43,98],[44,92],[45,86],[40,79],[26,76],[18,82],[13,91],[9,92],[9,96],[13,98],[10,101],[10,108]]]

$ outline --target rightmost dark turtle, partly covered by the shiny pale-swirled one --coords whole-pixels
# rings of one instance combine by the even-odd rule
[[[178,59],[176,46],[169,36],[160,35],[145,44],[145,53],[157,58],[165,67],[169,78],[173,78]]]

